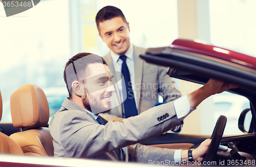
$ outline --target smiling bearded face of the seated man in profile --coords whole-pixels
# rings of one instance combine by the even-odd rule
[[[114,77],[106,65],[95,63],[88,66],[90,75],[85,79],[86,96],[82,97],[85,108],[94,114],[108,112],[112,109],[111,96],[115,92],[110,82]]]

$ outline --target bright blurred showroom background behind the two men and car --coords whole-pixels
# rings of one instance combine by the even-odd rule
[[[96,13],[106,5],[123,11],[136,46],[165,47],[176,38],[201,39],[256,56],[254,0],[41,0],[30,10],[10,17],[0,2],[2,122],[11,122],[10,96],[27,83],[44,89],[51,116],[58,111],[68,96],[63,81],[68,59],[79,52],[101,56],[109,52],[95,24]],[[201,87],[180,80],[176,83],[185,93]],[[211,97],[184,120],[181,133],[211,134],[223,110],[228,117],[224,134],[242,134],[238,116],[248,107],[244,97],[229,93]]]

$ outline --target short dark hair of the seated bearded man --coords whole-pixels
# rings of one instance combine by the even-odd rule
[[[80,61],[78,59],[80,59]],[[64,80],[70,99],[72,99],[72,82],[75,80],[82,81],[86,77],[85,75],[88,74],[88,65],[94,63],[107,65],[106,61],[101,56],[86,52],[76,54],[66,63]]]

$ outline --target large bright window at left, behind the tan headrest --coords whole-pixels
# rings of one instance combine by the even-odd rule
[[[10,96],[19,86],[65,86],[63,66],[70,57],[68,5],[68,0],[41,1],[10,17],[0,10],[2,122],[11,121],[5,114],[10,115]]]

